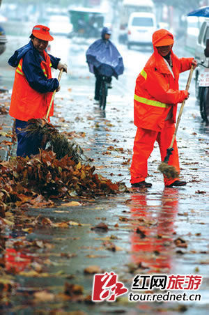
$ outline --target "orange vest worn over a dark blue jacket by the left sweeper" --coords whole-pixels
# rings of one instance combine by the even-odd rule
[[[40,67],[47,79],[52,79],[51,60],[47,52],[44,51],[45,61],[41,61]],[[50,100],[53,92],[39,93],[29,86],[24,72],[22,71],[22,61],[15,70],[15,81],[13,85],[13,93],[10,103],[10,116],[20,119],[21,121],[29,121],[31,118],[44,118],[47,114]],[[49,112],[49,116],[53,116],[54,104]]]

